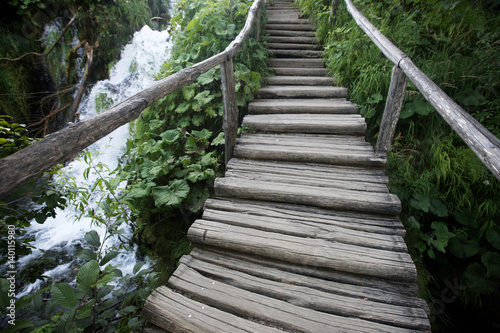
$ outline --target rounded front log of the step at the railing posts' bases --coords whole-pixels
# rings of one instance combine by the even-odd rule
[[[320,164],[384,167],[386,159],[374,153],[344,149],[303,148],[282,145],[236,145],[234,156],[256,160],[275,160]]]

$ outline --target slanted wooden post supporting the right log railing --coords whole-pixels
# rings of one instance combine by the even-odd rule
[[[394,132],[399,120],[399,114],[405,98],[406,84],[408,78],[401,68],[394,66],[392,68],[391,83],[385,103],[384,115],[380,124],[380,131],[377,139],[376,153],[387,154],[391,149]]]

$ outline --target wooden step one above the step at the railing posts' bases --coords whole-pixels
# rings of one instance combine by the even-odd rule
[[[247,115],[243,126],[263,132],[365,135],[366,122],[357,114]]]

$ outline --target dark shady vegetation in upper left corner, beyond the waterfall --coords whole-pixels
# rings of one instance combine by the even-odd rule
[[[135,31],[168,22],[166,6],[161,0],[0,2],[0,112],[27,123],[36,136],[59,129],[64,116],[56,115],[69,113],[89,51],[93,62],[87,82],[92,83],[107,77],[107,65]],[[151,20],[162,15],[164,20]],[[49,31],[42,42],[50,22],[58,22],[61,29],[72,24],[61,36],[58,30]],[[83,57],[78,55],[82,49]]]

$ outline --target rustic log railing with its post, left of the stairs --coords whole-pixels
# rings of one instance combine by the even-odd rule
[[[53,166],[66,161],[120,126],[137,119],[148,106],[193,83],[198,76],[217,65],[221,65],[224,100],[223,129],[227,162],[233,155],[238,130],[233,57],[243,48],[256,19],[257,26],[260,26],[260,7],[263,1],[254,1],[250,7],[245,26],[223,52],[158,81],[153,86],[96,116],[64,128],[1,159],[0,197]],[[258,38],[259,31],[258,28],[256,38]]]

